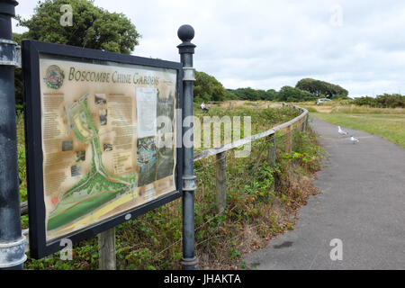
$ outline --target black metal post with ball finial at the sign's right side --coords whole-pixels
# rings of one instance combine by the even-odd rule
[[[184,78],[183,78],[183,119],[186,117],[193,117],[193,53],[195,45],[190,41],[194,38],[194,30],[190,25],[181,26],[177,35],[183,43],[177,46],[181,62],[183,64]],[[183,127],[183,135],[188,130],[193,130],[193,125],[190,127]],[[190,137],[193,142],[193,131]],[[184,145],[184,143],[183,143]],[[186,145],[184,147],[184,163],[183,163],[183,258],[180,261],[184,270],[198,269],[198,259],[195,257],[194,251],[194,190],[195,176],[193,164],[193,145]]]

